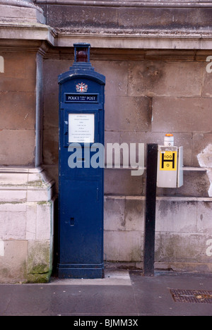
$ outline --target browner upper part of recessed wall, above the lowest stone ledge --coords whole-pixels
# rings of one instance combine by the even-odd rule
[[[206,171],[201,171],[197,157],[211,142],[209,86],[212,75],[206,72],[207,54],[199,61],[192,57],[177,61],[171,55],[170,59],[159,56],[160,51],[158,59],[154,60],[96,61],[91,58],[95,70],[107,80],[105,142],[161,144],[165,133],[174,133],[175,144],[184,147],[184,166],[194,169],[185,171],[184,187],[172,191],[164,189],[160,194],[208,197],[210,181]],[[46,58],[44,61],[44,164],[52,166],[52,175],[58,159],[57,76],[68,70],[72,61],[71,58]],[[108,180],[107,173],[110,173]],[[106,169],[105,193],[140,195],[143,183],[129,174],[127,170]],[[117,183],[113,186],[110,181],[114,176]],[[119,176],[122,180],[118,180]]]

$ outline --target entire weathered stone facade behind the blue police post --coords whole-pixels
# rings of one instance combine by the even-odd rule
[[[155,267],[211,271],[210,2],[6,2],[0,1],[0,281],[47,281],[51,274],[57,76],[71,66],[74,42],[91,44],[91,62],[106,76],[105,142],[161,144],[173,133],[184,147],[184,186],[158,188]],[[145,174],[105,169],[106,262],[142,267],[144,204]]]

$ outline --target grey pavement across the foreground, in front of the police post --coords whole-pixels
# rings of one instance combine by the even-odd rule
[[[105,271],[105,279],[52,279],[45,284],[1,284],[1,316],[211,316],[212,303],[175,302],[170,289],[212,290],[212,274]],[[212,299],[211,299],[212,302]],[[78,318],[74,319],[78,319]]]

